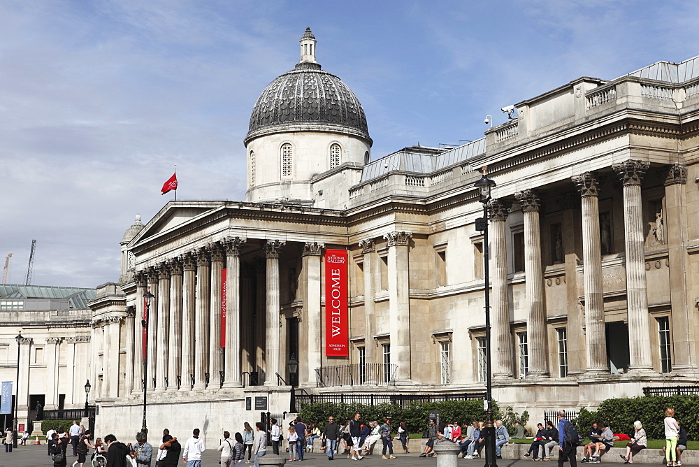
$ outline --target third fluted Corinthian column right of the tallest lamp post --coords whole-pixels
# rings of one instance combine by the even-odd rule
[[[602,286],[599,183],[593,173],[572,177],[582,196],[582,264],[585,287],[585,347],[587,373],[607,373],[605,303]],[[568,326],[570,329],[570,326]]]

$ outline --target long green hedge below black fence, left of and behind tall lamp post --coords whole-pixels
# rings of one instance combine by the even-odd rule
[[[503,418],[500,410],[498,409],[497,403],[493,401],[493,409],[495,411],[496,418]],[[510,415],[509,419],[518,419],[521,422],[521,417],[516,414],[516,412],[508,411],[505,415]],[[401,408],[400,405],[383,403],[377,405],[366,405],[359,403],[329,403],[320,402],[306,404],[299,412],[298,416],[305,423],[319,423],[324,424],[329,416],[335,417],[339,424],[345,424],[348,419],[354,417],[356,412],[361,413],[361,420],[363,422],[369,422],[370,420],[377,420],[377,422],[383,422],[385,417],[391,417],[392,424],[395,426],[399,422],[405,421],[408,424],[408,431],[410,433],[422,433],[426,429],[427,425],[427,414],[430,410],[439,410],[440,421],[442,422],[459,422],[461,424],[471,423],[474,420],[482,420],[485,418],[485,412],[483,412],[483,401],[443,401],[443,402],[433,402],[433,403],[410,403],[408,407]],[[523,414],[523,417],[526,412]],[[514,424],[514,421],[512,422]],[[507,424],[505,424],[507,426]]]

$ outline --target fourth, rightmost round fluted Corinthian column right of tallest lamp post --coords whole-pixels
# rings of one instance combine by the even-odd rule
[[[626,247],[626,308],[629,371],[651,371],[648,288],[643,240],[641,181],[649,164],[630,159],[612,166],[624,184],[624,245]]]

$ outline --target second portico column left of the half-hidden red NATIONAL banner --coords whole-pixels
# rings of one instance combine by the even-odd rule
[[[196,258],[196,315],[194,316],[194,389],[206,389],[209,372],[209,320],[211,266],[205,249],[192,252]]]

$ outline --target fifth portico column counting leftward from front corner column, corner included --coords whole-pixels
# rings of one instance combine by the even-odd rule
[[[182,263],[168,260],[170,268],[170,323],[168,326],[168,391],[177,391],[182,373]]]

